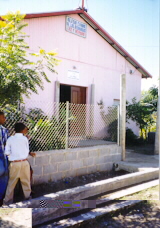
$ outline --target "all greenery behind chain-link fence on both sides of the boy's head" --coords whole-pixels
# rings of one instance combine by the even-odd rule
[[[6,116],[5,126],[14,134],[16,122],[23,122],[29,128],[30,151],[45,151],[65,148],[65,110],[59,108],[59,118],[49,118],[40,108],[26,112],[25,107],[0,106]]]

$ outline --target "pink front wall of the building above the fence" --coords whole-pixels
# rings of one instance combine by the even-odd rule
[[[82,21],[78,15],[70,17]],[[82,38],[65,30],[65,16],[26,19],[26,41],[30,51],[38,47],[46,51],[56,50],[62,60],[56,68],[58,75],[48,72],[51,83],[44,83],[45,90],[32,95],[32,100],[54,102],[55,81],[62,84],[87,87],[87,103],[90,103],[90,87],[95,84],[95,103],[103,99],[106,106],[120,98],[120,74],[127,75],[127,100],[140,98],[141,74],[112,48],[98,33],[87,25],[87,37]],[[118,40],[117,40],[118,41]],[[79,80],[67,77],[68,70],[79,72]],[[132,74],[130,74],[132,70]],[[137,128],[134,127],[135,132]]]

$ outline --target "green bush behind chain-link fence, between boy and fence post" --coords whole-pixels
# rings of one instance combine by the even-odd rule
[[[30,150],[53,150],[65,148],[65,137],[62,128],[65,122],[56,119],[55,116],[48,118],[41,109],[31,109],[27,115],[30,125],[29,134]]]

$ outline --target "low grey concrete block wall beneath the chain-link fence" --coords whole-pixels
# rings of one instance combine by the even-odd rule
[[[74,177],[96,171],[110,171],[121,160],[121,147],[116,144],[68,150],[39,151],[29,156],[33,185]]]

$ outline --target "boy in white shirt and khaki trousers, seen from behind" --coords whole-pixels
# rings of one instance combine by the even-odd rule
[[[23,123],[15,124],[14,136],[8,138],[5,154],[9,156],[9,181],[4,198],[4,205],[13,202],[14,188],[20,179],[25,199],[30,198],[30,165],[27,161],[29,155],[29,143],[26,134],[28,128]]]

